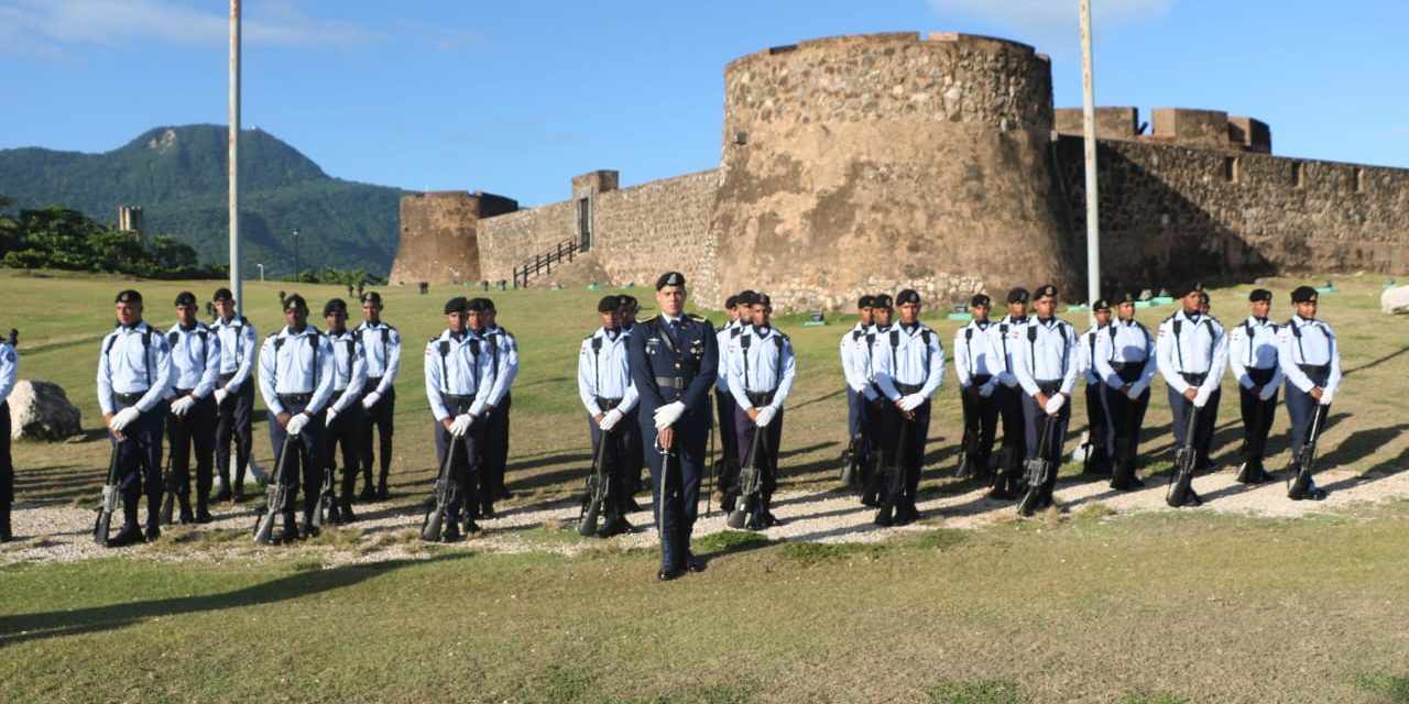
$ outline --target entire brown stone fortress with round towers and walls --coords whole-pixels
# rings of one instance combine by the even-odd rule
[[[1409,273],[1409,169],[1272,156],[1267,124],[1216,110],[1098,108],[1107,284],[1271,273]],[[619,187],[597,170],[534,208],[486,193],[402,199],[390,280],[650,284],[666,269],[717,307],[744,287],[782,310],[916,287],[930,306],[1057,283],[1085,298],[1081,108],[1054,108],[1031,46],[868,34],[724,68],[717,169]]]

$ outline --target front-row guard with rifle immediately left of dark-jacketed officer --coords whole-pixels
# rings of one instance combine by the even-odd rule
[[[599,538],[610,538],[630,532],[626,520],[631,508],[631,483],[635,467],[631,459],[633,448],[641,445],[641,428],[637,425],[637,393],[631,383],[631,367],[627,359],[627,335],[621,332],[617,296],[597,301],[597,318],[602,327],[582,341],[578,352],[578,396],[588,410],[588,431],[592,436],[592,456],[597,456],[602,442],[603,463],[607,474],[607,501],[602,507],[603,522],[597,525]]]

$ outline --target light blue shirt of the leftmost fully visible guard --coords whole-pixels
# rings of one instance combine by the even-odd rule
[[[144,342],[145,339],[145,342]],[[147,321],[117,329],[103,337],[97,358],[97,403],[103,413],[117,413],[114,394],[142,394],[137,410],[151,411],[170,389],[170,345],[166,337],[152,329]]]

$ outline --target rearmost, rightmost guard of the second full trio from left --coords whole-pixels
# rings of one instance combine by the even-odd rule
[[[362,294],[362,324],[356,328],[366,352],[366,383],[362,386],[362,428],[358,462],[362,465],[362,501],[386,500],[392,472],[392,435],[396,428],[396,375],[402,370],[402,334],[382,321],[382,294]],[[372,452],[373,429],[380,458]],[[372,463],[378,462],[376,490],[372,490]],[[345,491],[352,498],[351,491]]]

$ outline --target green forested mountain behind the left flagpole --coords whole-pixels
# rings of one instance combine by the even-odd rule
[[[0,193],[18,208],[68,206],[116,222],[141,206],[148,235],[172,235],[203,263],[230,256],[227,128],[158,127],[107,153],[0,149]],[[400,241],[404,191],[334,179],[297,149],[259,130],[240,141],[240,235],[245,276],[303,269],[365,269],[386,276]]]

